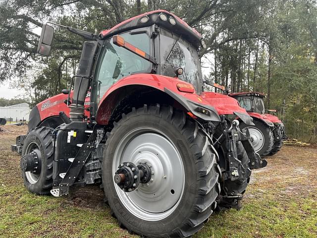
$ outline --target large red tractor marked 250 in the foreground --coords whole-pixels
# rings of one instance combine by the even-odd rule
[[[33,108],[28,134],[12,145],[26,188],[59,197],[74,184],[101,183],[119,224],[147,237],[196,233],[216,199],[239,207],[251,169],[266,161],[248,130],[229,120],[252,124],[246,111],[219,115],[202,92],[202,36],[164,10],[99,35],[65,28],[87,41],[73,90]],[[40,54],[52,39],[53,27],[43,25]]]

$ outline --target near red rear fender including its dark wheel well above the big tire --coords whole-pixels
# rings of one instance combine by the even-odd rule
[[[125,113],[124,107],[138,107],[148,103],[173,105],[174,102],[198,118],[220,121],[217,111],[207,101],[195,92],[178,91],[177,83],[191,85],[178,78],[156,74],[127,76],[106,91],[99,103],[96,120],[99,124],[107,125],[110,119],[116,117],[115,114]],[[117,110],[118,108],[121,110]]]

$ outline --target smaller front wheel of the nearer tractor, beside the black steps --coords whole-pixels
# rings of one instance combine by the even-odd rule
[[[53,144],[50,127],[36,127],[26,136],[22,155],[33,153],[41,164],[39,173],[22,171],[25,187],[36,194],[49,194],[53,186]]]

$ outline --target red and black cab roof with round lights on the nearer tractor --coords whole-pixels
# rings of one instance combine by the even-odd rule
[[[166,16],[165,21],[160,18],[161,14]],[[174,25],[170,23],[170,18],[173,18],[175,20]],[[143,19],[143,21],[141,21],[141,19]],[[166,10],[154,10],[131,17],[108,30],[103,30],[99,34],[99,39],[105,40],[113,35],[141,27],[151,26],[153,24],[162,26],[163,28],[172,31],[177,35],[182,36],[182,38],[186,39],[197,48],[201,44],[201,40],[203,37],[196,29],[190,27],[185,21],[180,19],[178,16]]]

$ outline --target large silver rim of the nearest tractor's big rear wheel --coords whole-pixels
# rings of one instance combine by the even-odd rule
[[[112,178],[122,162],[146,162],[152,170],[153,180],[132,192],[123,192],[113,182],[120,201],[134,216],[158,221],[176,209],[184,190],[184,166],[176,146],[164,133],[142,127],[125,135],[114,153]]]

